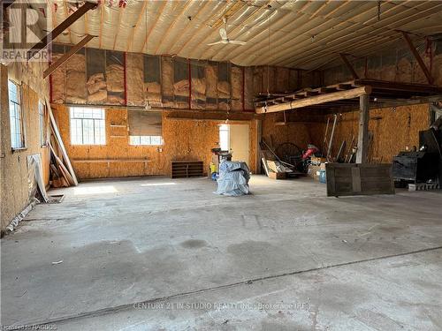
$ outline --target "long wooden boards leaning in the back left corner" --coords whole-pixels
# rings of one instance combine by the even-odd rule
[[[50,102],[46,101],[50,115],[50,177],[53,187],[76,186],[79,184],[75,172],[73,171],[71,161],[67,155],[65,144],[58,131]]]

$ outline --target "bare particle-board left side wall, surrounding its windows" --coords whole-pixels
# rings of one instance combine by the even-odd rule
[[[27,204],[27,156],[40,154],[42,158],[43,180],[50,182],[49,147],[41,146],[39,101],[49,98],[49,85],[42,79],[42,71],[47,64],[39,62],[14,63],[5,66],[0,64],[1,76],[1,229],[19,214]],[[9,116],[8,79],[13,79],[21,88],[21,109],[24,118],[26,146],[23,149],[11,150],[11,125]],[[48,123],[46,113],[45,124]],[[45,130],[48,126],[45,125]]]

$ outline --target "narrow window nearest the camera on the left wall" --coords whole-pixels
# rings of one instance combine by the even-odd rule
[[[9,91],[9,117],[11,123],[11,147],[19,149],[25,147],[25,134],[23,130],[23,113],[20,107],[20,88],[12,80],[8,81]]]

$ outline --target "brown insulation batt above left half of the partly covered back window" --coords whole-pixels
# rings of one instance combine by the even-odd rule
[[[126,56],[127,105],[144,106],[144,72],[143,55],[127,54]]]

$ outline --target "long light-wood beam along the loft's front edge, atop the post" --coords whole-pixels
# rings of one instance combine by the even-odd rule
[[[326,102],[337,102],[339,100],[353,99],[359,97],[362,94],[370,94],[370,93],[371,93],[370,86],[355,87],[344,91],[332,92],[329,94],[319,94],[315,96],[309,96],[303,99],[296,99],[293,100],[292,102],[283,102],[272,106],[259,107],[255,111],[256,114],[273,113],[276,111],[309,107]]]

